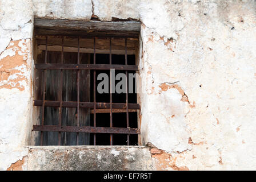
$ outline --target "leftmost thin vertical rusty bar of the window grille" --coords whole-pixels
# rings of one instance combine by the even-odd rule
[[[48,37],[46,36],[45,40],[45,64],[47,63],[47,42],[48,42]],[[43,103],[42,103],[42,126],[45,122],[45,92],[46,92],[46,70],[43,70]],[[43,145],[43,131],[41,131],[41,138],[40,138],[40,145]]]

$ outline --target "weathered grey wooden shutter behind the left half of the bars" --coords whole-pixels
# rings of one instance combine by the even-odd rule
[[[61,52],[51,52],[47,51],[47,63],[60,64],[61,63]],[[90,55],[87,53],[81,53],[81,63],[90,63]],[[37,56],[37,62],[43,63],[43,59],[45,57],[45,52],[39,54]],[[64,52],[63,56],[64,63],[77,63],[77,53]],[[81,71],[81,77],[85,78],[84,81],[81,81],[81,90],[80,90],[80,98],[81,101],[89,101],[90,99],[90,70],[83,69]],[[60,100],[62,101],[76,101],[76,98],[73,96],[73,92],[77,92],[76,85],[77,74],[72,70],[64,70],[63,71],[63,82],[61,82],[61,69],[54,70],[50,69],[46,72],[46,100],[55,100],[58,101],[58,106],[53,107],[45,107],[45,125],[58,125],[59,121],[59,107]],[[42,74],[38,75],[38,79],[36,82],[40,82],[42,79]],[[65,94],[60,94],[59,89],[63,88],[63,92]],[[38,85],[38,84],[37,84]],[[42,99],[42,86],[39,86],[39,90],[35,98]],[[38,97],[39,96],[39,97]],[[63,102],[62,102],[63,103]],[[54,105],[54,102],[51,102]],[[41,104],[42,105],[42,104]],[[65,106],[65,105],[64,105]],[[77,106],[77,105],[76,105]],[[75,107],[76,107],[75,106]],[[77,125],[77,117],[75,114],[77,113],[77,108],[75,107],[63,107],[61,112],[61,125]],[[79,126],[89,126],[90,125],[90,109],[83,107],[79,109],[79,121],[81,121]],[[54,133],[51,131],[43,131],[43,143],[46,145],[57,145],[58,144],[58,133]],[[76,144],[76,134],[74,133],[61,133],[61,145],[75,145]],[[81,133],[79,134],[79,143],[81,144],[89,144],[90,142],[90,134]]]

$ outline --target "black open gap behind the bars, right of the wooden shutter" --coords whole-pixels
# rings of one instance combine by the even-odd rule
[[[93,54],[91,54],[91,62],[93,62]],[[135,65],[135,55],[127,55],[127,61],[129,65]],[[109,64],[109,55],[107,54],[96,54],[96,64]],[[125,55],[112,55],[112,64],[121,64],[125,65]],[[106,73],[110,77],[109,71],[96,71],[96,78],[100,73]],[[115,76],[118,73],[126,73],[125,71],[115,71]],[[135,73],[135,71],[128,71],[128,73]],[[93,83],[93,72],[90,75],[90,82]],[[101,82],[100,80],[96,81],[96,85]],[[117,84],[117,81],[115,82]],[[135,82],[133,82],[135,88]],[[91,85],[91,93],[93,93],[93,85]],[[126,94],[125,93],[113,93],[112,94],[113,103],[125,103]],[[137,104],[137,94],[129,93],[128,94],[129,103]],[[93,95],[90,97],[91,102],[93,102]],[[96,93],[96,102],[110,102],[110,94],[100,94]],[[97,113],[96,114],[97,126],[100,127],[110,127],[110,117],[109,113]],[[91,110],[90,115],[90,125],[93,126],[93,110]],[[129,112],[129,126],[131,128],[137,128],[137,110]],[[113,110],[113,127],[122,127],[126,126],[126,113],[117,113],[117,110]],[[110,145],[110,134],[97,134],[97,145]],[[90,144],[93,144],[93,134],[90,134]],[[113,145],[124,145],[127,144],[127,135],[125,134],[113,134]],[[130,145],[138,145],[137,135],[130,134]]]

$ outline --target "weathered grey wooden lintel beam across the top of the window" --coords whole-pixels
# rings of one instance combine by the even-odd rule
[[[35,35],[138,37],[141,23],[99,22],[66,19],[34,19]]]

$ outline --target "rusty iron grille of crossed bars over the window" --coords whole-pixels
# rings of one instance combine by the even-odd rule
[[[95,42],[96,38],[93,38],[93,64],[82,64],[79,63],[79,52],[80,52],[80,40],[77,38],[77,64],[67,64],[64,63],[64,37],[62,37],[61,46],[61,64],[50,64],[47,63],[47,42],[48,37],[45,37],[45,59],[42,64],[35,64],[35,69],[41,69],[43,71],[43,86],[42,86],[42,100],[34,100],[34,106],[41,106],[41,125],[33,125],[33,131],[41,131],[40,144],[43,145],[43,131],[55,131],[58,132],[58,145],[61,145],[61,133],[62,132],[75,132],[77,133],[77,145],[79,133],[93,133],[93,144],[96,145],[96,134],[97,133],[107,133],[110,134],[110,145],[113,145],[113,134],[127,134],[127,145],[130,145],[130,134],[140,134],[140,130],[137,128],[129,127],[129,112],[137,111],[140,109],[139,104],[129,103],[128,99],[128,79],[126,79],[126,102],[125,103],[113,103],[112,93],[111,93],[111,82],[110,82],[110,102],[96,102],[96,70],[121,70],[125,71],[127,78],[127,71],[138,71],[136,65],[127,64],[127,38],[124,38],[125,44],[125,65],[112,64],[112,53],[111,53],[111,39],[109,38],[109,64],[96,64],[96,51]],[[77,101],[50,101],[46,100],[46,70],[57,69],[61,71],[60,78],[57,78],[61,83],[63,83],[63,70],[69,69],[77,72]],[[80,71],[82,69],[93,70],[93,102],[81,102],[79,101],[80,93]],[[110,73],[111,80],[111,73]],[[58,90],[59,95],[62,96],[62,84]],[[45,125],[45,107],[59,107],[59,118],[58,125]],[[62,119],[62,108],[63,107],[77,107],[77,126],[63,126]],[[90,113],[93,114],[93,126],[79,126],[79,108],[91,109]],[[125,112],[126,113],[126,128],[113,127],[113,113]],[[110,113],[110,127],[97,127],[96,113]]]

